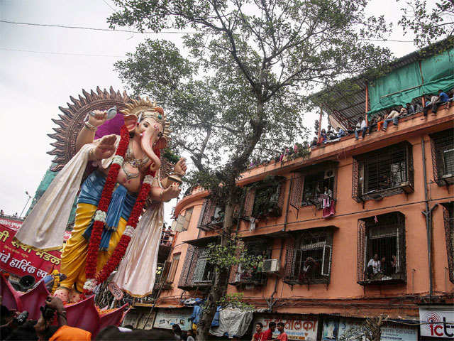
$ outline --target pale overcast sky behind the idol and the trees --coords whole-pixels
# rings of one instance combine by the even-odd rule
[[[433,1],[435,2],[435,1]],[[368,10],[384,14],[397,23],[404,1],[372,0]],[[108,28],[106,18],[114,6],[110,0],[0,0],[0,20],[66,26]],[[6,214],[20,213],[25,191],[34,195],[52,156],[46,152],[53,141],[52,118],[70,95],[82,89],[124,87],[114,72],[114,63],[145,38],[166,38],[181,46],[178,34],[138,34],[87,31],[67,28],[20,26],[0,23],[0,208]],[[390,39],[402,37],[395,28]],[[413,43],[383,43],[395,56],[411,53]],[[21,51],[18,51],[21,50]],[[35,52],[26,52],[35,51]],[[55,53],[55,54],[52,54]],[[67,53],[57,54],[57,53]],[[104,55],[104,56],[93,56]],[[306,114],[311,127],[316,118]],[[169,206],[169,205],[166,205]],[[166,209],[166,220],[170,207]]]

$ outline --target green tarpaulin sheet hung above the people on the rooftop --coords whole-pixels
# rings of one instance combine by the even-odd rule
[[[438,90],[448,91],[453,87],[454,48],[421,60],[421,69],[416,61],[370,82],[367,115],[372,117],[383,109],[405,106],[423,94],[436,94]]]

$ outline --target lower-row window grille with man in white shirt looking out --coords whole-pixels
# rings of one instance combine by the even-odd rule
[[[402,213],[358,220],[357,264],[361,285],[406,282],[405,216]]]

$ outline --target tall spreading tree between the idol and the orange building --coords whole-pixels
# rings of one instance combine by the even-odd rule
[[[236,180],[251,157],[269,155],[301,134],[304,94],[390,59],[389,50],[370,43],[387,26],[382,17],[365,18],[367,0],[115,3],[112,28],[195,31],[183,37],[187,58],[170,42],[147,40],[116,70],[134,92],[165,99],[174,144],[197,168],[194,182],[225,207],[222,247],[231,239],[240,197]],[[226,271],[215,273],[199,340],[206,340],[226,293]]]

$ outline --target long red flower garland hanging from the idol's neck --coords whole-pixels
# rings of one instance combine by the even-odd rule
[[[129,131],[128,129],[126,129],[126,126],[123,126],[121,128],[120,134],[121,138],[120,143],[118,144],[116,155],[124,158],[126,154],[126,149],[128,148],[129,144]],[[155,150],[154,152],[156,156],[159,158],[160,151]],[[104,185],[103,191],[101,193],[101,199],[99,200],[99,204],[97,207],[97,210],[101,212],[107,212],[107,209],[109,208],[112,193],[114,192],[116,179],[118,178],[119,170],[120,165],[118,163],[111,164],[111,168],[109,169],[109,173],[107,175],[106,184]],[[146,175],[154,176],[155,172],[148,171]],[[128,218],[126,226],[131,226],[133,227],[133,229],[135,229],[135,227],[138,224],[139,217],[143,212],[143,206],[145,205],[145,200],[147,199],[150,190],[151,185],[149,183],[142,183],[142,185],[140,186],[138,197],[135,200],[133,210],[131,210],[131,215]],[[99,271],[99,273],[96,274],[97,256],[99,244],[101,243],[101,235],[103,228],[104,222],[102,222],[101,220],[94,221],[92,236],[90,237],[87,254],[87,264],[85,270],[87,281],[92,281],[93,279],[96,279],[95,281],[96,284],[103,283],[104,281],[106,281],[106,279],[109,277],[112,271],[114,271],[118,264],[120,263],[121,259],[126,253],[126,249],[128,248],[129,242],[131,242],[131,237],[126,234],[123,234],[114,250],[114,253],[111,255],[107,263],[103,266],[101,271]],[[90,290],[88,289],[87,292],[89,291]]]

